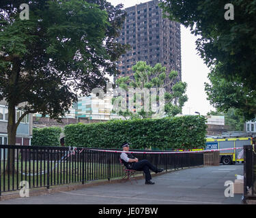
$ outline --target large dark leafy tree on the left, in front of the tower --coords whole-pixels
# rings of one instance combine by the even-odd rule
[[[106,85],[106,74],[117,73],[115,61],[127,46],[114,39],[125,12],[122,5],[91,2],[27,1],[29,20],[19,16],[26,1],[0,2],[0,99],[8,104],[8,144],[15,144],[27,114],[59,120],[76,102],[76,91],[88,95]],[[23,110],[17,121],[16,106]]]

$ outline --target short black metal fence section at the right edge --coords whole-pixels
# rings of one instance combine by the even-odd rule
[[[256,147],[244,145],[244,201],[256,200]]]

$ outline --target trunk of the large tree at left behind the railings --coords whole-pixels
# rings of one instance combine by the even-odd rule
[[[15,105],[8,104],[8,145],[15,145],[16,144],[16,117],[15,117]],[[6,174],[15,174],[15,153],[14,149],[8,149],[8,159],[6,163]]]

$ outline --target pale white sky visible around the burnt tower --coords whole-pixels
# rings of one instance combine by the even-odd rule
[[[131,7],[139,3],[145,3],[149,0],[107,0],[112,5],[122,3],[124,8]],[[206,115],[214,108],[207,100],[204,91],[204,82],[209,82],[207,76],[210,70],[203,63],[203,59],[197,55],[195,41],[197,37],[191,34],[189,29],[181,25],[181,47],[182,47],[182,81],[188,84],[186,95],[188,102],[185,103],[182,114],[192,114],[199,112]]]

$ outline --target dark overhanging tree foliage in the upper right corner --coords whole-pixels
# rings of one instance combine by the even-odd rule
[[[226,20],[222,0],[162,0],[164,14],[182,23],[195,35],[197,50],[209,67],[219,65],[218,76],[256,89],[256,4],[231,0],[234,20]],[[228,8],[228,7],[226,7]]]

